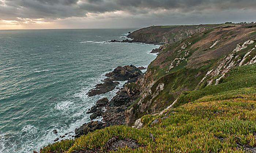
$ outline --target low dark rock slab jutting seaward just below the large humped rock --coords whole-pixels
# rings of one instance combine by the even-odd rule
[[[91,97],[91,96],[107,93],[111,90],[114,90],[118,84],[119,82],[113,82],[112,79],[107,78],[104,80],[103,83],[99,83],[98,85],[95,86],[94,89],[91,89],[87,93],[87,95]]]

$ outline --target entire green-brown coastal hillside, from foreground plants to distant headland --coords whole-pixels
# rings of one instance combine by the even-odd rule
[[[165,45],[145,74],[121,90],[132,97],[121,118],[114,116],[125,125],[41,152],[256,152],[256,24],[184,27],[130,35]],[[174,40],[175,29],[186,35]]]

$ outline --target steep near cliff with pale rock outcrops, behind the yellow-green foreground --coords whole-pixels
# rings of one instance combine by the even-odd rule
[[[128,125],[145,114],[158,113],[177,98],[174,106],[181,105],[184,91],[218,85],[231,69],[256,63],[255,26],[219,26],[203,31],[166,44],[151,62],[137,82],[140,97],[126,112]]]

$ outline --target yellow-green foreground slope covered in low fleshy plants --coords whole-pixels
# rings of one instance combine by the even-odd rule
[[[152,124],[155,119],[159,122]],[[142,129],[108,127],[41,152],[104,152],[103,146],[114,136],[145,145],[119,152],[242,152],[244,147],[256,147],[256,64],[231,70],[219,85],[182,94],[175,108],[163,116],[146,115],[142,122]]]

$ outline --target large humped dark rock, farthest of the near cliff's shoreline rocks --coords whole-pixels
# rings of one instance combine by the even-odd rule
[[[136,78],[140,76],[142,72],[133,65],[130,66],[118,66],[114,69],[113,72],[110,72],[106,74],[107,77],[110,77],[113,79],[113,81],[126,81],[131,78]]]

